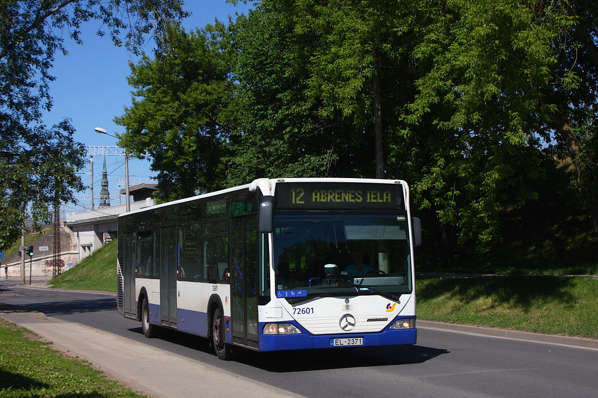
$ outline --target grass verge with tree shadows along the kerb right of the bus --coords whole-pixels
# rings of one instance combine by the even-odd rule
[[[417,317],[598,339],[598,279],[420,277],[417,280]]]

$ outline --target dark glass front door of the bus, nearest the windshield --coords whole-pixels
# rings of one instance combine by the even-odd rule
[[[232,335],[237,344],[258,347],[257,222],[254,216],[232,221]]]

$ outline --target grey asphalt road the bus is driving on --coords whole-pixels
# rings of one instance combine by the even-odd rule
[[[115,310],[114,295],[17,287],[16,283],[0,280],[0,303],[91,326],[306,397],[598,396],[595,349],[418,328],[416,345],[360,348],[352,353],[246,351],[236,361],[224,362],[201,338],[166,332],[146,339],[139,323]]]

